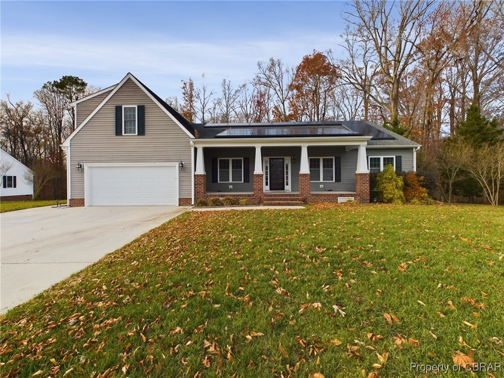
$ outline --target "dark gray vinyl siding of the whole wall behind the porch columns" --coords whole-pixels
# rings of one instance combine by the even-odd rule
[[[263,147],[262,158],[291,157],[291,192],[299,192],[299,169],[301,161],[301,147]],[[345,147],[308,147],[308,157],[341,157],[341,182],[312,182],[312,192],[354,192],[355,170],[357,169],[357,149],[346,152]],[[240,158],[248,157],[250,182],[212,182],[212,158]],[[207,147],[204,149],[205,172],[207,173],[207,192],[220,193],[251,193],[254,191],[254,167],[256,161],[255,148],[226,148]],[[232,190],[229,189],[232,185]]]

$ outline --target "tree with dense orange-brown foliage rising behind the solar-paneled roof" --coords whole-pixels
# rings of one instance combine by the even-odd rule
[[[296,68],[289,88],[289,107],[294,120],[323,121],[326,119],[331,92],[340,74],[322,52],[313,50]]]

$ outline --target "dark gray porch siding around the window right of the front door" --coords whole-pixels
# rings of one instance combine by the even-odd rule
[[[310,157],[341,157],[341,182],[310,183],[311,192],[355,192],[355,171],[357,170],[357,149],[346,151],[345,147],[308,147]],[[321,188],[320,185],[324,187]]]

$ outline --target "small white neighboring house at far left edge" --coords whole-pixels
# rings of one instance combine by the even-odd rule
[[[33,171],[0,149],[0,201],[31,200],[33,198]]]

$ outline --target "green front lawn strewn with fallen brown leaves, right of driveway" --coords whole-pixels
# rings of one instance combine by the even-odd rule
[[[502,207],[184,213],[9,311],[0,374],[503,376],[503,238]]]

